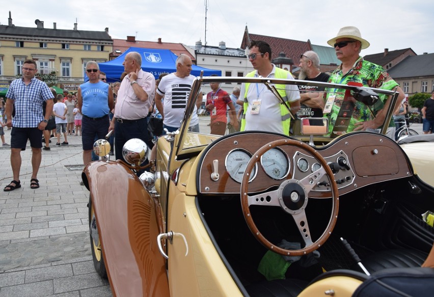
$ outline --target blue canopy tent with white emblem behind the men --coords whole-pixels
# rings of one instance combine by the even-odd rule
[[[142,47],[130,47],[121,56],[115,60],[108,61],[105,63],[98,63],[99,69],[105,72],[107,76],[107,83],[119,82],[122,72],[124,72],[124,66],[122,63],[125,60],[125,55],[130,51],[137,51],[142,55],[142,69],[144,71],[154,74],[155,78],[163,72],[175,72],[176,66],[175,61],[178,58],[169,49],[155,49],[155,48],[142,48]],[[200,72],[203,70],[204,76],[209,76],[211,74],[222,75],[220,70],[212,70],[196,65],[192,66],[192,75],[199,76]],[[87,81],[87,76],[85,77]]]

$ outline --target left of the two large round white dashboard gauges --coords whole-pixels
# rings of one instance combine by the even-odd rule
[[[240,149],[235,149],[229,152],[229,154],[226,157],[225,161],[225,167],[226,171],[229,173],[229,176],[237,181],[241,182],[242,177],[246,171],[247,164],[249,163],[249,160],[251,158],[251,154]],[[256,176],[257,171],[257,165],[252,169],[252,172],[250,173],[249,182],[252,181]]]

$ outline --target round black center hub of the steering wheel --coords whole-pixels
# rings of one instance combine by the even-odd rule
[[[283,210],[294,214],[306,207],[307,199],[298,180],[285,180],[279,187],[279,202]]]

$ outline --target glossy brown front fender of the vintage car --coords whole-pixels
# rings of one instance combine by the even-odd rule
[[[82,174],[95,211],[102,255],[115,296],[169,296],[166,261],[157,247],[159,203],[137,175],[110,161]]]

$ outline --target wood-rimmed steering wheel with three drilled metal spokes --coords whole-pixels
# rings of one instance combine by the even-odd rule
[[[256,162],[258,162],[261,156],[268,150],[278,146],[288,146],[288,145],[296,146],[306,151],[308,154],[310,154],[318,161],[318,163],[321,165],[321,168],[319,168],[318,170],[312,172],[311,174],[309,174],[308,176],[300,180],[294,178],[286,179],[283,182],[281,182],[279,188],[275,191],[269,191],[258,195],[249,195],[248,187],[249,187],[250,172],[252,172],[252,169],[255,166]],[[329,179],[330,188],[332,190],[333,207],[332,207],[330,220],[327,227],[325,228],[321,236],[316,241],[313,242],[310,235],[305,209],[309,202],[308,193],[312,190],[312,188],[316,185],[316,183],[322,176],[327,176],[327,178]],[[256,237],[256,239],[259,242],[261,242],[263,246],[265,246],[270,251],[274,251],[278,254],[285,255],[285,256],[288,255],[301,256],[301,255],[311,253],[316,249],[318,249],[320,246],[322,246],[322,244],[329,238],[333,228],[335,227],[336,220],[338,218],[338,210],[339,210],[338,194],[339,194],[338,186],[336,184],[336,181],[334,180],[332,170],[327,165],[327,161],[325,161],[325,159],[311,146],[303,142],[291,140],[291,139],[283,139],[283,140],[270,142],[264,145],[263,147],[261,147],[256,153],[253,154],[252,158],[250,159],[247,165],[245,174],[242,177],[241,193],[240,193],[242,213],[253,235]],[[302,235],[305,241],[305,247],[299,250],[286,250],[272,244],[272,242],[267,240],[256,227],[256,224],[254,223],[252,214],[250,212],[250,205],[281,207],[283,211],[290,214],[294,219],[295,224],[297,225],[300,234]]]

